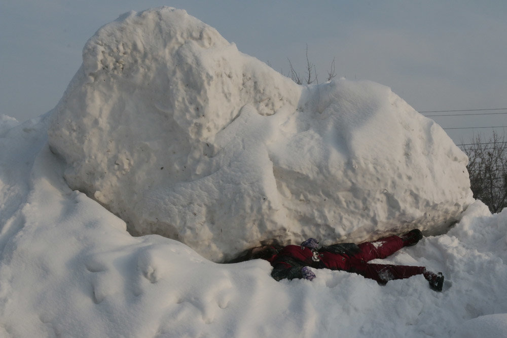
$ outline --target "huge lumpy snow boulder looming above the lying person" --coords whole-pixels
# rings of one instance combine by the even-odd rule
[[[385,86],[299,86],[183,10],[100,28],[56,106],[73,189],[223,261],[263,242],[439,232],[472,201],[466,156]]]

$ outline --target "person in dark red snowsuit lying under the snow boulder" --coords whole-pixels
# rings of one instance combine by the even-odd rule
[[[403,247],[416,244],[422,238],[418,229],[402,236],[389,236],[375,242],[333,244],[318,248],[314,238],[307,239],[301,245],[287,245],[282,248],[264,246],[255,248],[251,258],[263,258],[273,266],[271,276],[281,279],[305,278],[313,280],[315,269],[331,269],[354,272],[365,278],[385,284],[391,279],[409,278],[423,275],[433,290],[442,291],[444,276],[427,271],[425,267],[401,266],[391,264],[370,264],[375,258],[385,258]]]

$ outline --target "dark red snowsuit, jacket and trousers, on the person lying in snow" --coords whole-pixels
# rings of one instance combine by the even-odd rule
[[[299,245],[288,245],[268,260],[274,268],[272,276],[277,280],[301,278],[299,271],[304,266],[354,272],[381,284],[391,279],[408,278],[426,272],[425,267],[368,263],[372,259],[385,258],[403,248],[403,241],[398,236],[362,243],[357,247],[358,252],[348,254],[324,251],[325,248],[311,250]]]

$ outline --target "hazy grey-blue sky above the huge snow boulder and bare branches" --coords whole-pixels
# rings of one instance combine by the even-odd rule
[[[308,45],[321,80],[335,58],[338,77],[387,85],[418,111],[507,107],[505,0],[2,0],[0,114],[24,121],[52,109],[100,26],[164,5],[278,71],[288,72],[287,57],[303,70]],[[507,114],[433,119],[445,128],[507,125]],[[447,130],[456,143],[488,131]]]

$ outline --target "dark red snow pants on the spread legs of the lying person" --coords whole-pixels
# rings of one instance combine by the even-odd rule
[[[357,273],[365,278],[374,279],[380,284],[385,284],[391,279],[403,279],[420,275],[426,271],[425,267],[368,263],[372,259],[386,258],[403,248],[403,241],[398,236],[389,236],[371,243],[361,243],[358,247],[360,251],[356,254],[350,256],[337,255],[340,257],[335,257],[335,259],[342,260],[340,270]],[[331,258],[329,255],[327,254],[328,259]]]

